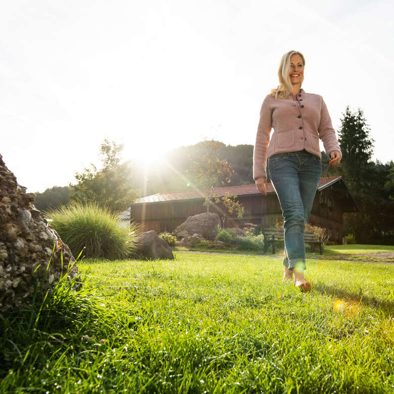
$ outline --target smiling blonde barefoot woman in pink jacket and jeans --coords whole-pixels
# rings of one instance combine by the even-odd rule
[[[267,195],[266,161],[272,185],[284,217],[284,276],[303,291],[305,280],[304,229],[311,213],[322,168],[319,138],[331,158],[339,164],[342,154],[322,96],[301,88],[304,56],[297,51],[283,55],[279,86],[263,102],[253,153],[253,177],[257,189]],[[274,132],[270,139],[271,128]]]

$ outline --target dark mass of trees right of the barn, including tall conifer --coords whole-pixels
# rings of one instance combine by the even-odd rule
[[[371,161],[374,140],[363,111],[343,113],[338,131],[342,161],[337,169],[348,185],[360,212],[343,217],[345,234],[355,234],[358,243],[391,243],[394,241],[393,166]],[[325,174],[326,175],[326,174]]]

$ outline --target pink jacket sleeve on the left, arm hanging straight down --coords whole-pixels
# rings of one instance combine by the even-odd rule
[[[260,121],[257,127],[256,143],[253,150],[253,179],[267,178],[267,149],[272,129],[272,111],[270,95],[267,94],[260,110]]]

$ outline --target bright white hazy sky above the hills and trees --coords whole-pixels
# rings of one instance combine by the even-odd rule
[[[296,50],[333,127],[361,108],[386,163],[393,13],[391,0],[0,0],[0,154],[36,192],[98,164],[106,137],[141,170],[204,138],[254,144],[280,58]]]

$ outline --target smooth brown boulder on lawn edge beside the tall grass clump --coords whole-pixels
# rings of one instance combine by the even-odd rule
[[[137,256],[145,259],[171,259],[174,260],[168,243],[157,235],[156,231],[146,231],[136,239]]]

